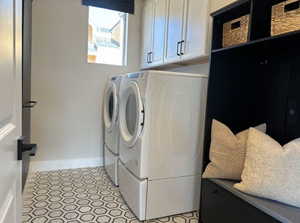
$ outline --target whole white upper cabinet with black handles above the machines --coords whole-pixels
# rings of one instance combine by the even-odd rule
[[[233,0],[220,0],[228,4]],[[207,58],[218,0],[145,0],[142,68]],[[213,5],[211,7],[211,4]]]

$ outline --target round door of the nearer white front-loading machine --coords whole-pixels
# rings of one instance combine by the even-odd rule
[[[132,147],[141,134],[144,122],[144,108],[138,85],[129,82],[121,96],[120,133],[124,142]]]

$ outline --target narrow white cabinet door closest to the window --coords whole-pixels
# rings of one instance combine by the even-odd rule
[[[155,0],[146,0],[144,6],[142,68],[150,65],[149,53],[152,52],[153,46],[154,2]]]

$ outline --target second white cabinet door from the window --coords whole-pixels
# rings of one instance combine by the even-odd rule
[[[151,66],[161,65],[164,62],[166,19],[167,0],[155,0]]]

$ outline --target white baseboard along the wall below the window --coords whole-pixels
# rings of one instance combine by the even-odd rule
[[[29,172],[51,171],[62,169],[76,169],[85,167],[103,166],[103,158],[73,159],[73,160],[50,160],[30,162]]]

